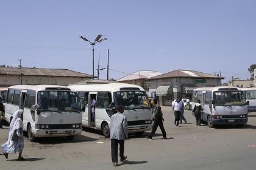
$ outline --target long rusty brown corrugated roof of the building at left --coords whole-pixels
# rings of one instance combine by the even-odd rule
[[[39,69],[39,68],[21,68],[22,75],[27,76],[51,76],[51,77],[88,77],[92,75],[75,72],[68,69]],[[17,67],[0,67],[0,75],[20,75],[20,69]]]

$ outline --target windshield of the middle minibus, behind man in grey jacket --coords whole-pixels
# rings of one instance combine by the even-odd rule
[[[149,109],[149,100],[143,91],[120,91],[114,92],[116,106],[123,105],[124,109]]]

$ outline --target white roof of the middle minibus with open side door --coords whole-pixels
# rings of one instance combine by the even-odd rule
[[[85,84],[68,86],[71,89],[82,92],[118,92],[129,90],[145,91],[142,87],[127,83],[107,83],[107,84]]]

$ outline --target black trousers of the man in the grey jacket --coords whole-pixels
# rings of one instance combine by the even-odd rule
[[[111,140],[111,157],[112,162],[118,162],[118,143],[119,143],[119,157],[124,157],[124,140]]]

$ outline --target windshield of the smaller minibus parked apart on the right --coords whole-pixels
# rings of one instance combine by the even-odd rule
[[[215,105],[230,106],[246,104],[243,91],[238,90],[223,90],[213,92],[213,99],[215,100]]]

